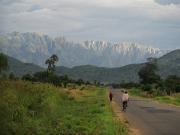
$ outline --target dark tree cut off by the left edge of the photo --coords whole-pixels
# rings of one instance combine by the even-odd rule
[[[8,59],[3,53],[0,53],[0,73],[2,72],[2,70],[7,70],[7,68]]]

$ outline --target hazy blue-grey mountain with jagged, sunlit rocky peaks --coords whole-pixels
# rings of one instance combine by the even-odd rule
[[[23,62],[44,66],[52,54],[59,56],[58,65],[73,67],[96,65],[120,67],[145,62],[148,57],[159,57],[166,51],[137,43],[112,44],[103,41],[69,42],[65,38],[50,38],[38,33],[13,32],[0,35],[0,51]]]

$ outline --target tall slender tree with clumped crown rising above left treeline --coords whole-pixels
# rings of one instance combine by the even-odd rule
[[[55,71],[55,63],[58,61],[58,56],[53,54],[50,58],[45,61],[45,64],[48,65],[48,73],[53,73]]]

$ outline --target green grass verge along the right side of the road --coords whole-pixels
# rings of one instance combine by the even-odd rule
[[[132,88],[129,90],[130,95],[137,97],[146,97],[145,94],[136,88]],[[180,106],[180,93],[173,94],[172,96],[154,96],[152,99],[157,100],[161,103],[173,104]]]

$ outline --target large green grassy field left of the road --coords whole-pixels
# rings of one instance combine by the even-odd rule
[[[104,88],[0,81],[2,135],[125,135]]]

